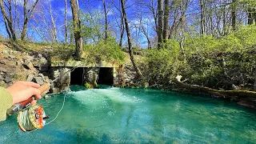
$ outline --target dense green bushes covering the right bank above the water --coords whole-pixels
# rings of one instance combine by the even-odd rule
[[[150,85],[164,86],[177,74],[188,83],[216,89],[229,90],[232,84],[251,88],[254,84],[256,26],[242,27],[222,38],[186,38],[185,54],[175,41],[163,47],[146,51],[142,70]]]

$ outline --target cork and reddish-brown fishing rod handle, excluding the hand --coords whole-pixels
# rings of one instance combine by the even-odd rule
[[[46,90],[49,90],[50,89],[50,83],[46,83],[46,84],[43,84],[42,86],[38,87],[38,90],[41,91],[41,94],[43,92],[45,92]],[[14,104],[14,106],[11,106],[7,111],[6,113],[8,115],[12,115],[14,114],[15,112],[17,112],[18,110],[22,110],[24,107],[30,105],[30,102],[32,102],[33,100],[35,99],[34,96],[28,98],[26,101],[23,101],[23,102],[19,102],[19,103],[16,103]]]

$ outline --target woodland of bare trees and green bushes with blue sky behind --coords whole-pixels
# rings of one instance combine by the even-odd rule
[[[255,0],[1,0],[2,39],[122,63],[138,83],[256,90]],[[45,51],[53,54],[53,52]],[[134,54],[141,58],[136,61]]]

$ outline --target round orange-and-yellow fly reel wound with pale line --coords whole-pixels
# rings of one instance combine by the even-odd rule
[[[24,132],[42,129],[47,118],[49,116],[46,116],[42,106],[37,103],[18,111],[17,114],[18,126]]]

